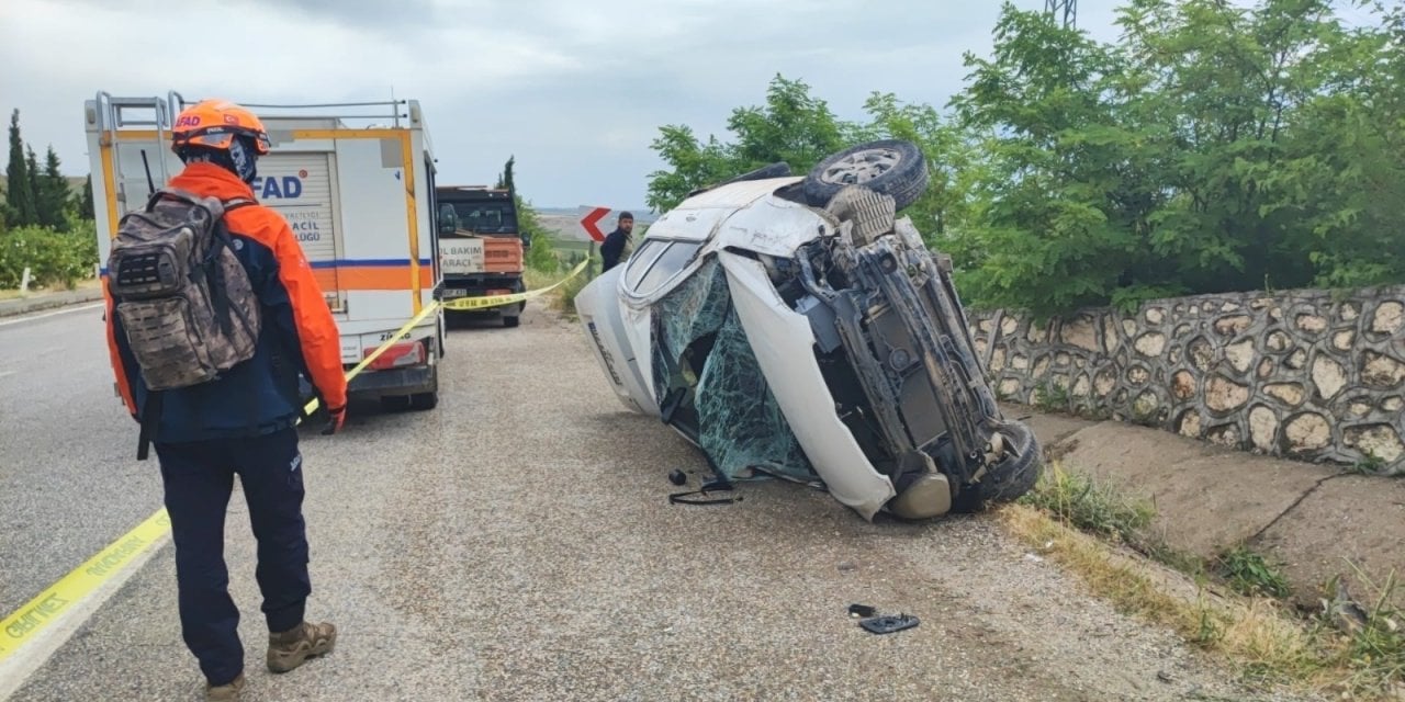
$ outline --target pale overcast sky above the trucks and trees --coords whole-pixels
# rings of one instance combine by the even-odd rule
[[[1079,25],[1114,38],[1117,4],[1082,0]],[[98,90],[282,104],[393,87],[424,108],[440,183],[490,184],[516,154],[537,205],[641,208],[660,125],[725,136],[777,73],[843,118],[874,90],[944,105],[998,14],[995,0],[0,0],[0,108],[81,176]]]

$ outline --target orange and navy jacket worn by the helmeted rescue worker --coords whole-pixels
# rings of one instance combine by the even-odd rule
[[[222,201],[254,199],[253,190],[228,170],[192,163],[170,185]],[[327,407],[344,407],[347,380],[341,340],[332,310],[302,247],[281,215],[263,205],[232,209],[225,222],[254,292],[263,303],[263,333],[254,357],[219,380],[166,393],[157,441],[200,441],[275,431],[292,425],[301,410],[298,372]],[[146,388],[126,348],[121,320],[107,298],[108,347],[118,389],[140,417]]]

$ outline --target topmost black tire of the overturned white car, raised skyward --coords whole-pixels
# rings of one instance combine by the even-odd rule
[[[927,160],[917,145],[902,139],[881,139],[851,146],[819,161],[805,176],[805,199],[822,208],[849,185],[863,185],[891,195],[898,211],[927,190]]]

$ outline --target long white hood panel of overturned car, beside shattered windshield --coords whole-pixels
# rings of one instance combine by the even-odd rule
[[[746,338],[805,456],[836,500],[873,519],[896,491],[835,414],[809,320],[785,306],[762,264],[725,251],[718,257]]]

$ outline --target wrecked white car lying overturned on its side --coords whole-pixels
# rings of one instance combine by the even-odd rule
[[[1038,442],[1000,414],[950,260],[896,216],[926,185],[882,140],[691,194],[576,296],[620,400],[726,480],[823,484],[865,519],[1028,491]]]

